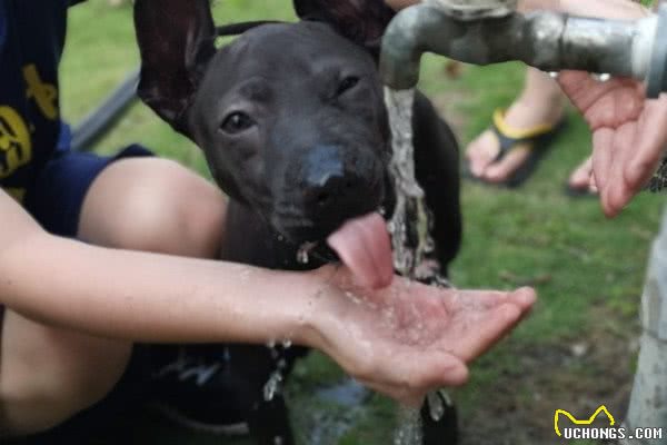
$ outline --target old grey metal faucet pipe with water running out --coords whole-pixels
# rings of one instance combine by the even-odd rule
[[[584,70],[647,82],[667,92],[667,4],[636,21],[548,11],[520,13],[516,0],[426,0],[399,12],[385,33],[380,72],[394,89],[417,85],[424,52],[490,65],[520,60],[544,71]]]

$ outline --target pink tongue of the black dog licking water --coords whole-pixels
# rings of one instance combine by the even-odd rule
[[[370,214],[350,219],[327,239],[360,286],[380,288],[394,278],[391,241],[385,219]]]

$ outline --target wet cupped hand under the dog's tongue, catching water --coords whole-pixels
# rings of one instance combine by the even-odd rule
[[[356,287],[345,267],[325,267],[313,304],[311,345],[357,380],[418,405],[431,389],[459,386],[467,365],[529,312],[532,289],[440,289],[396,277],[380,290]]]

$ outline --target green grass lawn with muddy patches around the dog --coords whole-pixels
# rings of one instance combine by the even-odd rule
[[[292,18],[286,0],[226,0],[215,10],[220,23]],[[73,8],[61,71],[66,117],[81,119],[137,65],[129,4],[111,8],[93,0]],[[448,72],[446,61],[427,58],[421,88],[462,145],[488,125],[495,108],[511,101],[522,82],[522,69],[514,63],[465,67],[456,78]],[[567,122],[521,189],[464,186],[465,241],[452,270],[456,285],[532,285],[540,297],[531,317],[480,359],[470,384],[455,393],[464,444],[556,444],[557,408],[588,416],[606,404],[623,417],[637,354],[645,263],[663,197],[645,194],[607,220],[595,199],[565,196],[570,169],[590,147],[584,122],[571,111]],[[207,175],[199,150],[141,105],[94,150],[109,154],[130,142]],[[336,392],[348,397],[332,397]],[[303,444],[390,443],[394,405],[350,389],[336,365],[320,355],[298,366],[288,395]],[[220,443],[150,415],[136,426],[141,443]]]

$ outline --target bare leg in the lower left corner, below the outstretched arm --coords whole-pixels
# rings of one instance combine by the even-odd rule
[[[116,386],[131,356],[129,343],[47,327],[19,329],[26,342],[3,338],[12,350],[3,354],[0,376],[0,429],[11,435],[49,429],[94,405]]]

